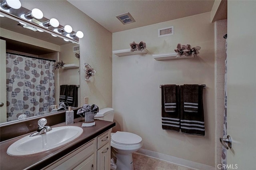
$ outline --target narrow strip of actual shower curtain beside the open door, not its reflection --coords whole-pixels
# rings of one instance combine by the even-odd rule
[[[227,54],[227,40],[226,39],[226,54]],[[227,137],[227,73],[228,73],[228,60],[225,60],[225,83],[224,83],[224,124],[223,124],[223,138]],[[222,165],[227,165],[227,149],[222,146]],[[222,170],[226,170],[227,166],[222,166]]]

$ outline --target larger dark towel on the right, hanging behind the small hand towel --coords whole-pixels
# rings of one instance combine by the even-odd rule
[[[183,93],[184,87],[181,85],[180,94]],[[180,95],[180,129],[185,134],[205,135],[202,85],[198,86],[198,113],[184,111],[184,97]]]

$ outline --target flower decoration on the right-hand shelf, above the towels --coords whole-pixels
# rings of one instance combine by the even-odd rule
[[[187,45],[181,45],[180,43],[178,43],[177,45],[177,49],[174,49],[175,52],[177,52],[178,54],[176,55],[177,57],[180,57],[182,55],[185,55],[186,57],[196,57],[199,54],[199,51],[201,47],[196,46],[191,48],[190,44]]]

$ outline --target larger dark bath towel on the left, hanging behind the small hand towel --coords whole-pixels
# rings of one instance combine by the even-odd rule
[[[172,130],[176,132],[180,132],[180,112],[179,112],[179,96],[180,96],[180,87],[178,85],[172,85],[175,87],[174,91],[169,91],[170,93],[164,94],[164,86],[162,85],[162,129],[164,130]],[[166,92],[166,91],[165,91]],[[175,93],[175,94],[173,94]],[[164,96],[175,95],[175,101],[176,101],[176,110],[175,112],[166,112],[165,111],[165,103],[164,103]]]

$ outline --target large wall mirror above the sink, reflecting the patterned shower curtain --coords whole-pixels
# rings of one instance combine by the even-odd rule
[[[6,88],[0,89],[0,92],[2,95],[6,91],[7,98],[7,103],[3,106],[7,107],[7,111],[4,113],[1,110],[0,123],[18,121],[18,116],[24,113],[28,117],[26,119],[51,113],[50,105],[59,103],[60,85],[76,85],[77,103],[80,103],[78,43],[66,42],[62,37],[24,27],[15,18],[8,16],[0,17],[0,39],[1,46],[3,43],[6,46],[5,54],[1,47],[0,56],[0,63],[6,62],[6,71],[0,71],[0,74],[6,74],[6,80],[1,79],[1,84],[6,84]],[[54,60],[66,64],[62,68],[53,69],[52,66],[56,64]],[[22,62],[24,68],[18,66]],[[41,70],[46,67],[50,68]],[[14,79],[22,76],[27,78],[21,81]],[[48,86],[45,85],[46,82]],[[15,99],[17,93],[22,93],[19,99]]]

